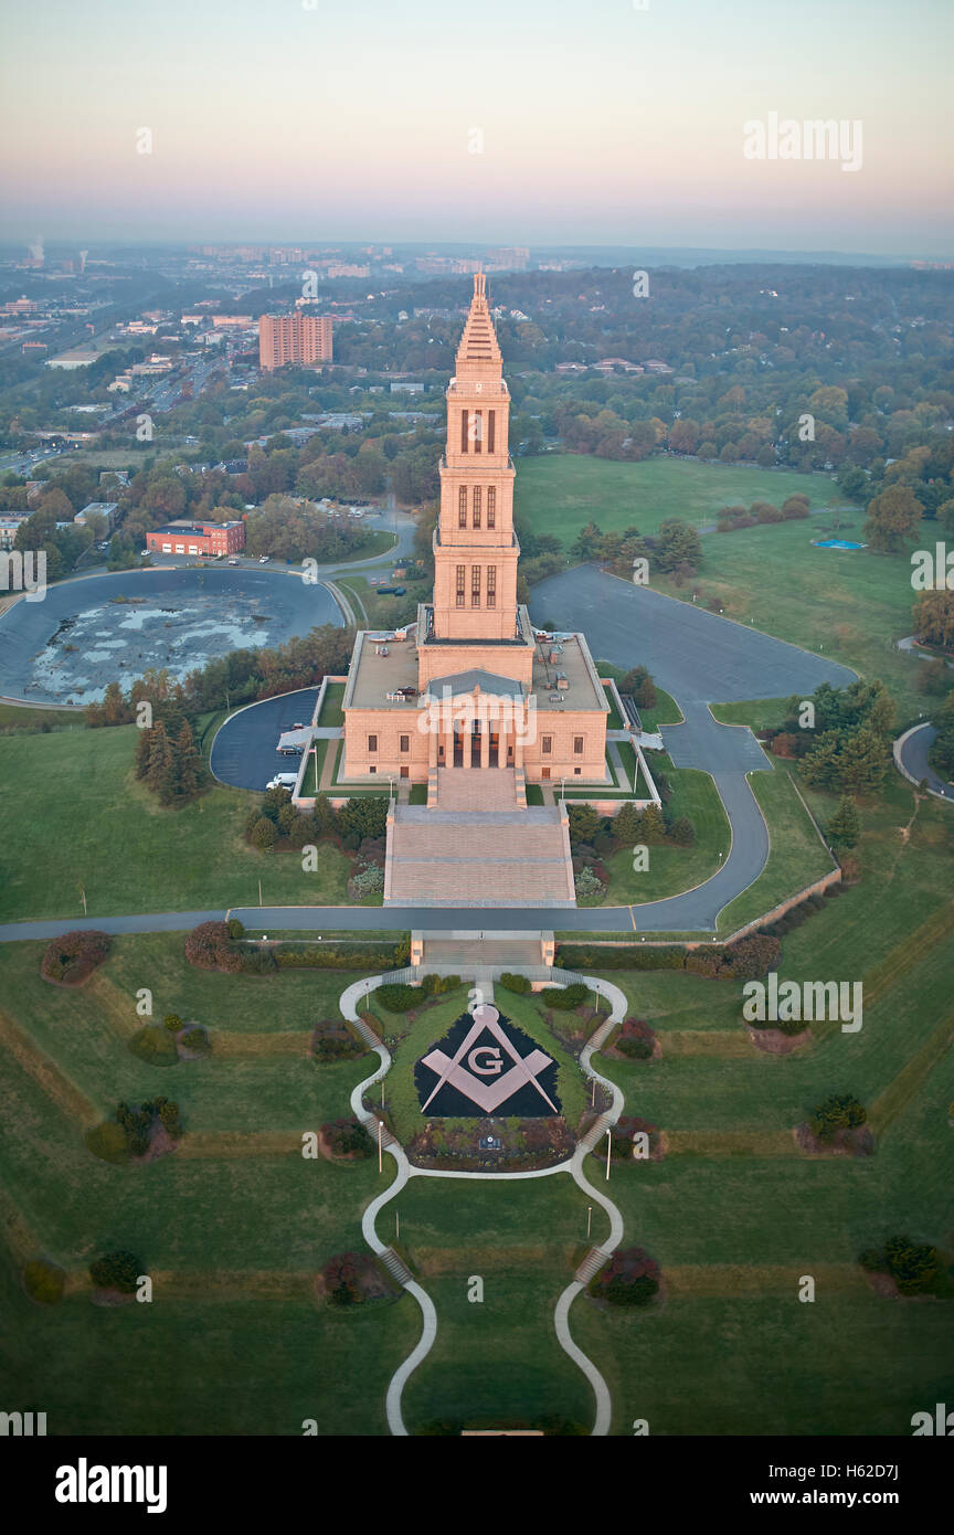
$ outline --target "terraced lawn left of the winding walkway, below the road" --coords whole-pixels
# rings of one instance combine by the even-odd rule
[[[294,1145],[348,1111],[368,1058],[316,1065],[304,1045],[353,976],[210,975],[186,967],[181,936],[152,935],[118,939],[94,981],[66,992],[40,979],[40,944],[0,949],[8,1016],[48,1073],[41,1087],[0,1053],[0,1183],[14,1246],[0,1245],[8,1388],[25,1400],[38,1392],[60,1434],[298,1435],[305,1417],[322,1434],[387,1432],[385,1388],[417,1337],[414,1303],[337,1314],[313,1286],[333,1253],[362,1246],[360,1210],[380,1187],[376,1159],[345,1165],[255,1148],[262,1131],[287,1131]],[[158,1070],[129,1053],[144,985],[156,1013],[172,1004],[210,1024],[207,1061]],[[227,1053],[242,1035],[267,1045],[276,1028],[296,1032],[301,1053]],[[120,1098],[173,1098],[186,1125],[179,1151],[144,1167],[95,1159],[49,1090],[51,1062],[97,1111]],[[221,1131],[247,1137],[245,1154],[190,1154],[192,1136]],[[143,1259],[153,1306],[90,1305],[86,1266],[117,1246]],[[26,1300],[17,1251],[67,1271],[60,1306]],[[149,1389],[112,1389],[120,1355]],[[347,1389],[356,1368],[367,1383],[357,1394]]]

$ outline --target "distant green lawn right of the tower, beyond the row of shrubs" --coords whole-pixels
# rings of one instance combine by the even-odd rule
[[[706,527],[715,523],[721,507],[750,507],[753,500],[781,507],[798,493],[807,494],[813,507],[844,499],[828,474],[695,464],[675,457],[614,464],[586,454],[549,453],[517,460],[515,514],[534,533],[560,539],[569,551],[587,522],[595,522],[604,533],[637,527],[649,534],[666,517],[683,517]]]

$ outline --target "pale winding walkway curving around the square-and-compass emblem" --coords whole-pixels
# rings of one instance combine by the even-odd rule
[[[387,1076],[387,1073],[390,1071],[391,1053],[387,1048],[387,1045],[380,1042],[374,1030],[370,1028],[359,1016],[359,1004],[367,1001],[368,995],[379,985],[382,985],[387,979],[388,979],[387,975],[377,975],[368,979],[354,981],[342,992],[339,1001],[342,1015],[351,1024],[354,1024],[362,1039],[365,1039],[367,1044],[376,1051],[380,1062],[377,1070],[373,1071],[371,1076],[367,1076],[362,1082],[359,1082],[351,1093],[351,1113],[365,1127],[365,1130],[374,1141],[377,1141],[377,1136],[380,1133],[380,1121],[374,1113],[370,1113],[364,1107],[364,1096],[365,1091],[374,1085],[374,1082],[380,1082],[380,1079]],[[382,1150],[387,1151],[388,1156],[394,1159],[397,1171],[388,1188],[385,1188],[380,1194],[377,1194],[365,1210],[360,1223],[362,1234],[371,1251],[385,1263],[385,1266],[403,1285],[408,1294],[414,1297],[414,1300],[420,1308],[420,1315],[422,1315],[420,1337],[414,1345],[414,1348],[411,1349],[411,1352],[408,1354],[408,1357],[403,1360],[403,1363],[399,1365],[399,1368],[394,1371],[394,1375],[391,1377],[391,1382],[388,1385],[385,1414],[388,1420],[388,1429],[391,1431],[393,1435],[397,1437],[408,1435],[408,1429],[402,1414],[403,1388],[406,1386],[408,1380],[411,1378],[417,1366],[422,1363],[422,1360],[426,1358],[434,1345],[434,1339],[437,1337],[437,1311],[426,1289],[422,1285],[419,1285],[417,1280],[413,1279],[410,1269],[399,1257],[399,1254],[394,1253],[393,1248],[387,1246],[377,1236],[377,1228],[376,1228],[377,1216],[380,1214],[383,1207],[390,1203],[402,1191],[402,1188],[411,1177],[456,1177],[456,1179],[480,1179],[483,1182],[492,1182],[503,1179],[551,1177],[555,1173],[569,1173],[577,1187],[581,1190],[581,1193],[587,1199],[595,1200],[595,1203],[598,1203],[609,1217],[607,1240],[600,1246],[590,1248],[586,1259],[577,1269],[577,1277],[561,1292],[554,1311],[554,1328],[557,1332],[557,1340],[561,1349],[572,1358],[574,1365],[577,1365],[586,1375],[594,1391],[597,1412],[595,1412],[594,1428],[590,1432],[594,1437],[601,1437],[609,1434],[612,1421],[612,1400],[609,1395],[609,1388],[603,1375],[594,1365],[594,1362],[583,1352],[581,1348],[578,1348],[577,1343],[574,1343],[569,1329],[569,1309],[577,1296],[586,1288],[594,1274],[597,1274],[603,1268],[603,1265],[609,1262],[614,1251],[623,1240],[623,1216],[620,1214],[620,1211],[617,1210],[617,1207],[614,1205],[612,1199],[607,1194],[601,1193],[598,1188],[594,1188],[594,1185],[586,1177],[586,1173],[583,1171],[583,1165],[586,1156],[594,1150],[601,1136],[606,1134],[607,1130],[610,1130],[612,1125],[617,1124],[620,1114],[623,1113],[623,1104],[624,1104],[623,1091],[617,1087],[615,1082],[610,1082],[609,1078],[601,1076],[601,1073],[597,1071],[590,1062],[594,1051],[598,1051],[603,1047],[610,1030],[624,1019],[626,996],[618,985],[612,984],[612,981],[603,981],[598,979],[597,976],[583,976],[583,979],[590,987],[590,990],[598,992],[609,1001],[610,1015],[606,1019],[606,1022],[600,1024],[600,1027],[594,1032],[589,1042],[583,1047],[580,1053],[580,1068],[587,1078],[595,1079],[597,1082],[600,1082],[601,1087],[606,1088],[606,1091],[610,1094],[610,1107],[604,1110],[604,1113],[601,1113],[597,1117],[597,1121],[590,1125],[586,1134],[581,1136],[572,1157],[569,1157],[566,1162],[557,1162],[554,1167],[534,1168],[525,1173],[456,1173],[456,1171],[443,1171],[442,1168],[414,1167],[408,1160],[408,1156],[400,1142],[390,1133],[390,1130],[387,1130],[387,1127],[383,1128]],[[558,984],[557,975],[554,975],[554,984]],[[584,1274],[584,1277],[580,1277],[581,1274]]]

